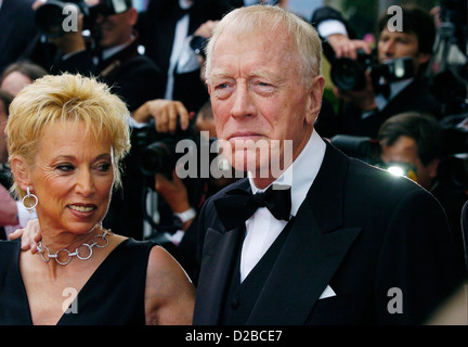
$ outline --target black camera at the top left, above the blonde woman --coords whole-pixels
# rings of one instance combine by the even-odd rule
[[[74,8],[70,8],[74,7]],[[83,29],[92,31],[99,14],[108,16],[126,12],[132,7],[131,0],[100,0],[95,5],[89,5],[84,0],[68,0],[67,2],[48,0],[35,13],[35,25],[38,31],[49,38],[66,34],[64,24],[70,16],[70,9],[83,15]]]

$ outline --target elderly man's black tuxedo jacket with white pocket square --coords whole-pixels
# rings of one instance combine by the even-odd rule
[[[244,179],[232,188],[249,190],[249,183]],[[200,214],[194,324],[220,323],[236,240],[245,231],[224,230],[217,216],[213,202],[225,191]],[[431,194],[327,144],[246,323],[416,324],[463,275],[446,218]],[[336,296],[320,299],[327,285]]]

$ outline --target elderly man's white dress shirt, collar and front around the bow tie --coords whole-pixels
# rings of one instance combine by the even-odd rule
[[[324,140],[313,130],[309,142],[296,160],[292,162],[292,165],[273,182],[291,187],[291,216],[297,215],[318,172],[325,155],[325,147]],[[248,172],[248,179],[253,194],[268,189],[259,190],[255,185],[250,172]],[[240,282],[245,280],[251,269],[263,257],[286,224],[287,221],[274,218],[266,207],[257,209],[253,216],[247,219],[246,237],[240,254]]]

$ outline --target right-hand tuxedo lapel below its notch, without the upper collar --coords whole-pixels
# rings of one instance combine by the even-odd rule
[[[301,325],[338,269],[360,228],[324,233],[306,202],[248,324]]]

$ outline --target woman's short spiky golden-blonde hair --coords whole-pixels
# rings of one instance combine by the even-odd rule
[[[9,162],[21,157],[34,166],[43,130],[55,121],[83,121],[96,139],[108,136],[113,147],[115,185],[120,185],[119,163],[130,150],[126,104],[95,78],[65,73],[47,75],[28,85],[10,105],[5,127]],[[25,192],[14,182],[12,191]]]

